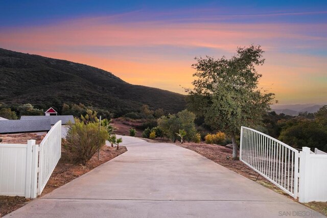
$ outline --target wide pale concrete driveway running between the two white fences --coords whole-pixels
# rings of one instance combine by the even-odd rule
[[[123,136],[128,152],[12,217],[283,217],[316,213],[201,155]]]

